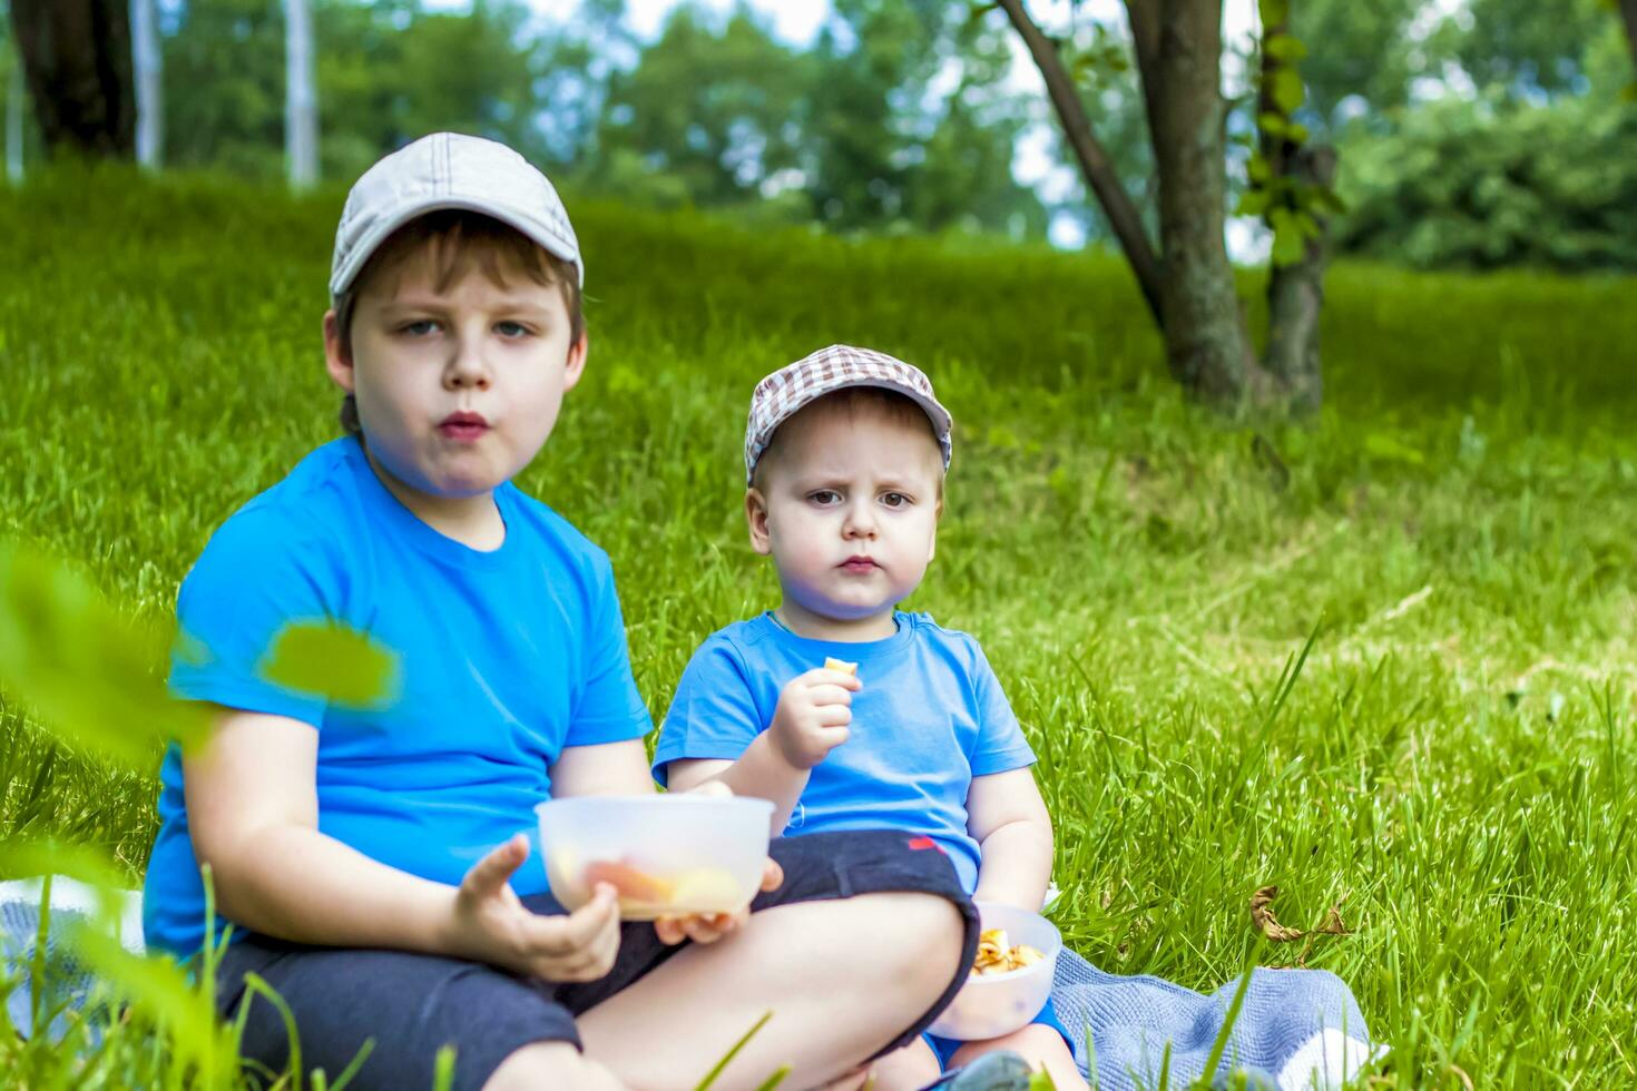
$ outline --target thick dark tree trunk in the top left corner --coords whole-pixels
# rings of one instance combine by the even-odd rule
[[[46,154],[136,150],[129,0],[11,0]]]

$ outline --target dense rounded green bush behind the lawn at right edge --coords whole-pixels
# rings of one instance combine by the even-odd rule
[[[1342,146],[1342,250],[1418,267],[1637,268],[1637,111],[1445,100]]]

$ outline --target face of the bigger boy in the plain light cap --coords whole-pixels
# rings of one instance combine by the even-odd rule
[[[439,499],[486,496],[521,473],[586,363],[560,286],[522,272],[503,286],[473,262],[439,291],[426,254],[360,293],[350,357],[334,311],[324,347],[375,463]]]

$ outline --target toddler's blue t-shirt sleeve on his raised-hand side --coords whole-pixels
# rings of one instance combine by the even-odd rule
[[[733,761],[763,726],[743,661],[728,640],[712,636],[676,684],[653,751],[653,779],[666,783],[666,765],[673,761]]]

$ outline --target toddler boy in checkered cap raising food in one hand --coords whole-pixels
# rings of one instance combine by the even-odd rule
[[[1053,842],[1035,754],[977,641],[895,610],[933,558],[949,427],[920,370],[868,348],[833,345],[756,386],[745,515],[782,602],[694,653],[655,775],[773,800],[774,829],[796,839],[907,831],[976,898],[1038,909]],[[990,1042],[912,1042],[877,1063],[877,1084],[918,1088],[995,1050],[1085,1086],[1049,1004]]]

